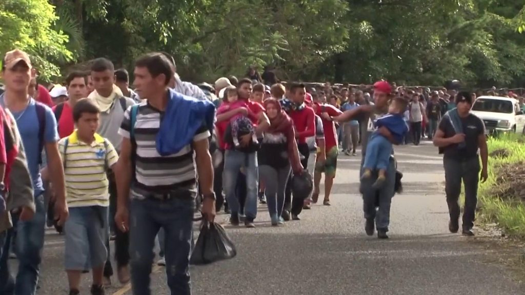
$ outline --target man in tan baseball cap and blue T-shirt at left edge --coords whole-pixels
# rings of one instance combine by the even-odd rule
[[[46,151],[49,178],[53,182],[55,191],[55,220],[57,220],[58,225],[64,225],[69,215],[64,184],[64,167],[58,150],[57,141],[59,137],[55,115],[49,107],[37,103],[29,97],[29,83],[31,78],[35,76],[35,71],[31,67],[27,53],[18,49],[7,52],[2,64],[2,76],[6,91],[0,99],[0,104],[7,107],[13,117],[16,118],[30,178],[33,180],[31,197],[36,205],[35,210],[22,206],[17,223],[17,237],[23,243],[17,245],[19,267],[14,289],[19,294],[34,294],[38,282],[38,269],[41,264],[41,250],[44,246],[46,225],[46,209],[43,205],[45,190],[40,175],[40,170],[43,168],[41,165],[43,150]],[[43,125],[44,120],[45,125]],[[12,187],[14,188],[15,185],[13,184]],[[28,215],[33,215],[33,212],[34,218],[28,218]],[[7,259],[5,255],[9,254],[9,245],[10,241],[6,239],[0,260]],[[6,273],[9,273],[8,269],[6,269]],[[7,280],[8,278],[5,278],[3,284]],[[13,279],[11,278],[10,281]],[[0,290],[5,290],[6,286],[3,284],[0,284]]]

